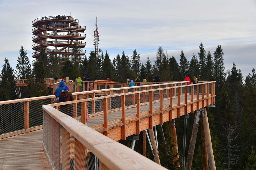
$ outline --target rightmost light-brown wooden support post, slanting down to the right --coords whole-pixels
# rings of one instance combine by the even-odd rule
[[[208,160],[209,167],[211,170],[215,170],[216,166],[215,166],[215,161],[214,161],[210,127],[209,127],[209,122],[208,122],[208,118],[207,118],[206,108],[204,108],[204,114],[205,114],[205,116],[203,117],[203,127],[204,127],[204,133],[205,133],[205,142],[206,142],[206,146],[207,146],[207,154],[208,154],[208,159],[209,159]]]

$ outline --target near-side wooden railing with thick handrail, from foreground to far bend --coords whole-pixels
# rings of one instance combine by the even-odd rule
[[[72,160],[75,169],[81,167],[87,169],[92,164],[89,161],[91,159],[89,154],[92,153],[99,159],[100,168],[161,169],[159,165],[115,141],[125,140],[127,136],[140,134],[142,130],[152,129],[155,125],[215,104],[215,81],[190,85],[186,83],[173,82],[78,92],[77,96],[79,98],[83,96],[83,99],[42,106],[43,145],[52,167],[55,169],[60,169],[61,165],[62,168],[70,167]],[[197,85],[196,98],[193,93],[195,85]],[[89,94],[92,98],[87,98]],[[95,94],[99,96],[95,97]],[[129,101],[131,104],[127,106],[128,96],[132,98]],[[120,107],[112,108],[111,101],[115,97],[119,97]],[[86,126],[86,102],[91,102],[93,111],[96,108],[96,100],[102,100],[102,111],[92,112],[90,121],[101,119],[102,124],[89,128]],[[61,105],[67,104],[81,105],[81,122],[58,111]],[[133,109],[131,112],[134,114],[128,114],[130,109]],[[77,115],[74,113],[75,116]],[[114,117],[114,120],[110,120],[111,117]]]

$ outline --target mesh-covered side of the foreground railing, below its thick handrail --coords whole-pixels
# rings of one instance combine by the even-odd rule
[[[100,160],[47,113],[43,121],[44,147],[55,169],[101,169]]]

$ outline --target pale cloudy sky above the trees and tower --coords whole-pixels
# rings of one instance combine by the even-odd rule
[[[256,68],[256,0],[0,0],[0,69],[5,57],[13,69],[21,46],[30,62],[32,21],[42,16],[66,15],[86,26],[86,56],[94,50],[97,17],[99,48],[111,59],[118,54],[154,64],[159,46],[180,62],[197,56],[200,43],[206,53],[222,46],[225,71],[234,63],[244,78]]]

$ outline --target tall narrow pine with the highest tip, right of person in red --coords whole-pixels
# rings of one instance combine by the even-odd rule
[[[199,71],[200,71],[200,77],[201,79],[205,80],[206,78],[206,58],[205,58],[205,49],[203,44],[201,43],[198,47],[200,49],[200,52],[198,52],[199,55]]]

